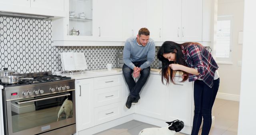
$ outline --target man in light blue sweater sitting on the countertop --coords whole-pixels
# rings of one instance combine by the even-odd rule
[[[129,87],[130,94],[126,101],[126,107],[130,109],[132,103],[138,103],[140,90],[146,83],[150,73],[150,65],[155,60],[155,43],[149,38],[150,32],[147,28],[141,28],[137,37],[128,38],[124,44],[122,68],[125,81]],[[132,77],[140,78],[137,82]]]

